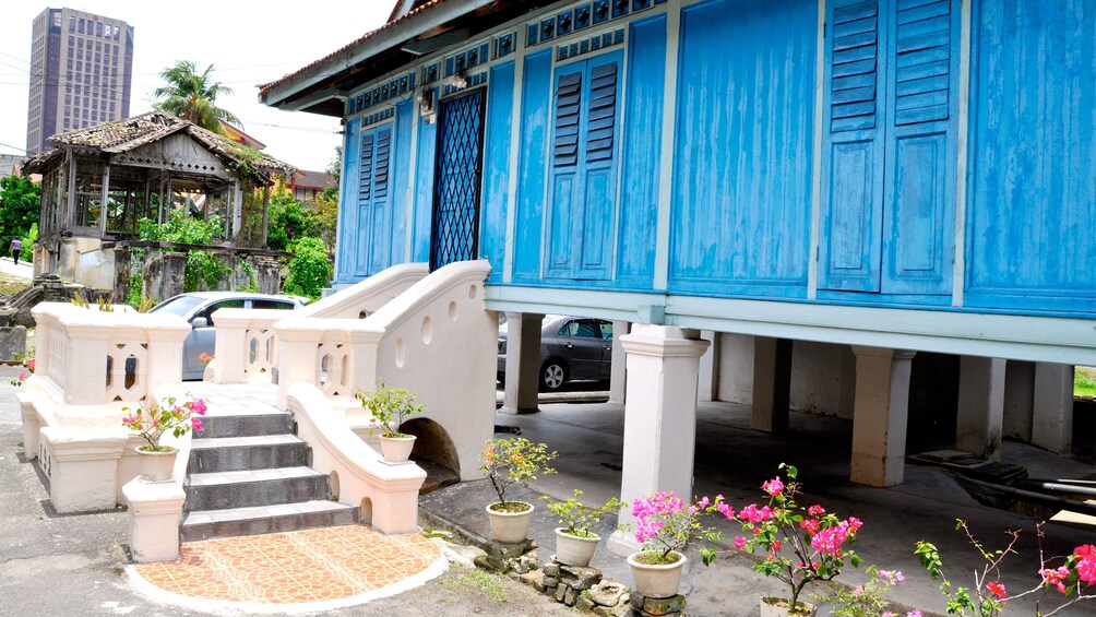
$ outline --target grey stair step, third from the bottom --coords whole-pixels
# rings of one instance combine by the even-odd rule
[[[305,464],[308,444],[296,435],[213,437],[191,443],[190,473],[296,467]]]

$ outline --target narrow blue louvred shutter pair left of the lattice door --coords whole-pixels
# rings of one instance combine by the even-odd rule
[[[392,127],[384,125],[362,132],[358,159],[357,212],[354,220],[354,276],[363,277],[388,266],[391,221],[388,168]]]

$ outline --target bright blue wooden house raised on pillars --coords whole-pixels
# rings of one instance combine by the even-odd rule
[[[901,481],[917,352],[962,358],[967,449],[1068,452],[1071,365],[1096,364],[1091,0],[402,0],[261,99],[343,118],[334,286],[486,259],[512,319],[631,322],[649,443],[693,430],[708,331],[751,341],[761,429],[786,424],[791,341],[853,358],[858,481]],[[626,453],[626,496],[688,493],[690,462],[650,458]]]

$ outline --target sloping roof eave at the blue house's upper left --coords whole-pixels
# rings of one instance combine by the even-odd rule
[[[436,7],[431,7],[422,12],[408,15],[406,19],[389,26],[381,26],[380,32],[377,32],[375,36],[369,36],[357,45],[347,46],[341,53],[302,71],[300,75],[292,76],[283,82],[275,82],[265,92],[260,92],[259,102],[271,107],[290,111],[315,106],[318,103],[315,96],[305,96],[300,101],[292,99],[309,94],[309,90],[319,82],[341,71],[349,70],[378,54],[392,49],[409,38],[445,25],[452,20],[487,7],[494,0],[442,2]],[[327,100],[333,99],[338,94],[340,93],[332,89]]]

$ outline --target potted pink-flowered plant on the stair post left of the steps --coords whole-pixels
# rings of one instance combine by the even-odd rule
[[[130,408],[124,407],[122,411],[128,412]],[[137,446],[137,454],[142,457],[141,476],[150,481],[170,480],[175,468],[175,456],[179,455],[179,448],[161,445],[160,437],[164,433],[182,437],[191,429],[201,432],[202,419],[199,416],[205,415],[205,400],[191,399],[182,404],[176,404],[174,397],[168,397],[162,402],[153,400],[148,409],[138,405],[132,411],[133,414],[122,419],[122,425],[136,431],[147,442]]]

